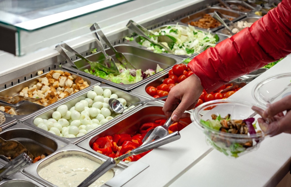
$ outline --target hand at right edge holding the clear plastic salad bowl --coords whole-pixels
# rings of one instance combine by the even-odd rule
[[[283,112],[287,110],[284,115]],[[282,98],[269,105],[269,107],[263,110],[255,111],[262,116],[258,119],[258,123],[263,132],[268,132],[270,136],[275,136],[280,133],[291,134],[291,95]]]

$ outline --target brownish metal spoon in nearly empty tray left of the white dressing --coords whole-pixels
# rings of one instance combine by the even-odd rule
[[[4,140],[0,137],[1,155],[14,159],[22,153],[26,153],[31,159],[34,158],[34,156],[20,142],[15,140]]]

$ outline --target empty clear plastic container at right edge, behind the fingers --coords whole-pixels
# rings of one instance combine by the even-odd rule
[[[253,98],[267,106],[291,94],[291,73],[274,75],[259,82],[252,91]]]

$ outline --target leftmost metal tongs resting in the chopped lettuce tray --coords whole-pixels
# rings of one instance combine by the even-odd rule
[[[76,50],[74,50],[72,47],[70,47],[68,44],[66,44],[65,42],[61,42],[58,45],[56,45],[56,50],[71,64],[71,66],[75,66],[77,69],[80,69],[82,67],[76,65],[72,59],[69,57],[69,55],[65,52],[65,50],[70,51],[71,53],[73,53],[74,55],[76,55],[77,57],[79,57],[80,59],[86,61],[88,64],[90,64],[90,66],[92,68],[101,70],[101,71],[105,71],[108,73],[113,73],[113,75],[118,75],[119,71],[116,71],[115,68],[111,69],[111,64],[102,64],[100,62],[92,62],[90,60],[88,60],[87,58],[83,57],[80,53],[78,53]]]

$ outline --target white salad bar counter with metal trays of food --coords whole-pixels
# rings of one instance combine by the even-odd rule
[[[290,73],[290,56],[211,93],[203,90],[195,108],[178,123],[164,125],[164,100],[134,104],[167,96],[193,74],[187,68],[191,59],[266,11],[251,1],[226,1],[228,8],[219,2],[178,1],[184,8],[168,5],[155,19],[141,21],[146,28],[129,17],[123,28],[104,29],[113,45],[108,47],[102,34],[104,51],[97,47],[100,29],[90,31],[96,25],[91,23],[89,34],[65,41],[72,50],[62,54],[51,47],[53,53],[45,58],[1,70],[0,137],[18,141],[7,142],[9,149],[15,157],[28,151],[32,163],[12,167],[16,158],[8,156],[2,143],[0,166],[9,167],[0,172],[0,186],[75,187],[110,158],[116,159],[115,166],[91,186],[276,186],[290,170],[290,135],[269,138],[256,125],[260,116],[251,108],[266,108],[260,101],[269,91],[254,88],[265,88],[259,83],[266,77]],[[231,32],[212,17],[216,12],[232,21]],[[146,29],[145,35],[133,32],[130,23]],[[81,53],[69,54],[74,50]],[[282,85],[280,97],[289,93]],[[273,96],[276,86],[268,84]],[[111,99],[121,103],[122,113],[112,110]],[[155,139],[175,131],[181,138],[119,162],[123,154],[142,147],[157,127],[166,128],[166,135]],[[19,142],[27,150],[16,151]]]

